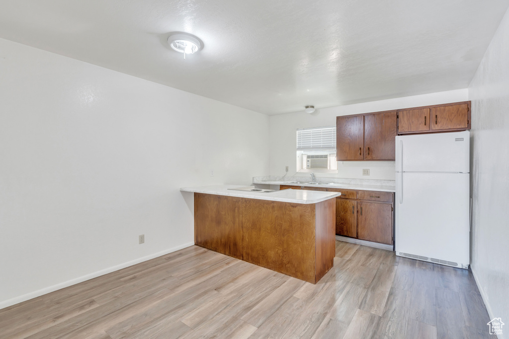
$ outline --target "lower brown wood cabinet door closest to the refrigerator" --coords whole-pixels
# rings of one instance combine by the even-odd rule
[[[359,239],[392,244],[392,205],[358,202],[357,206]]]

